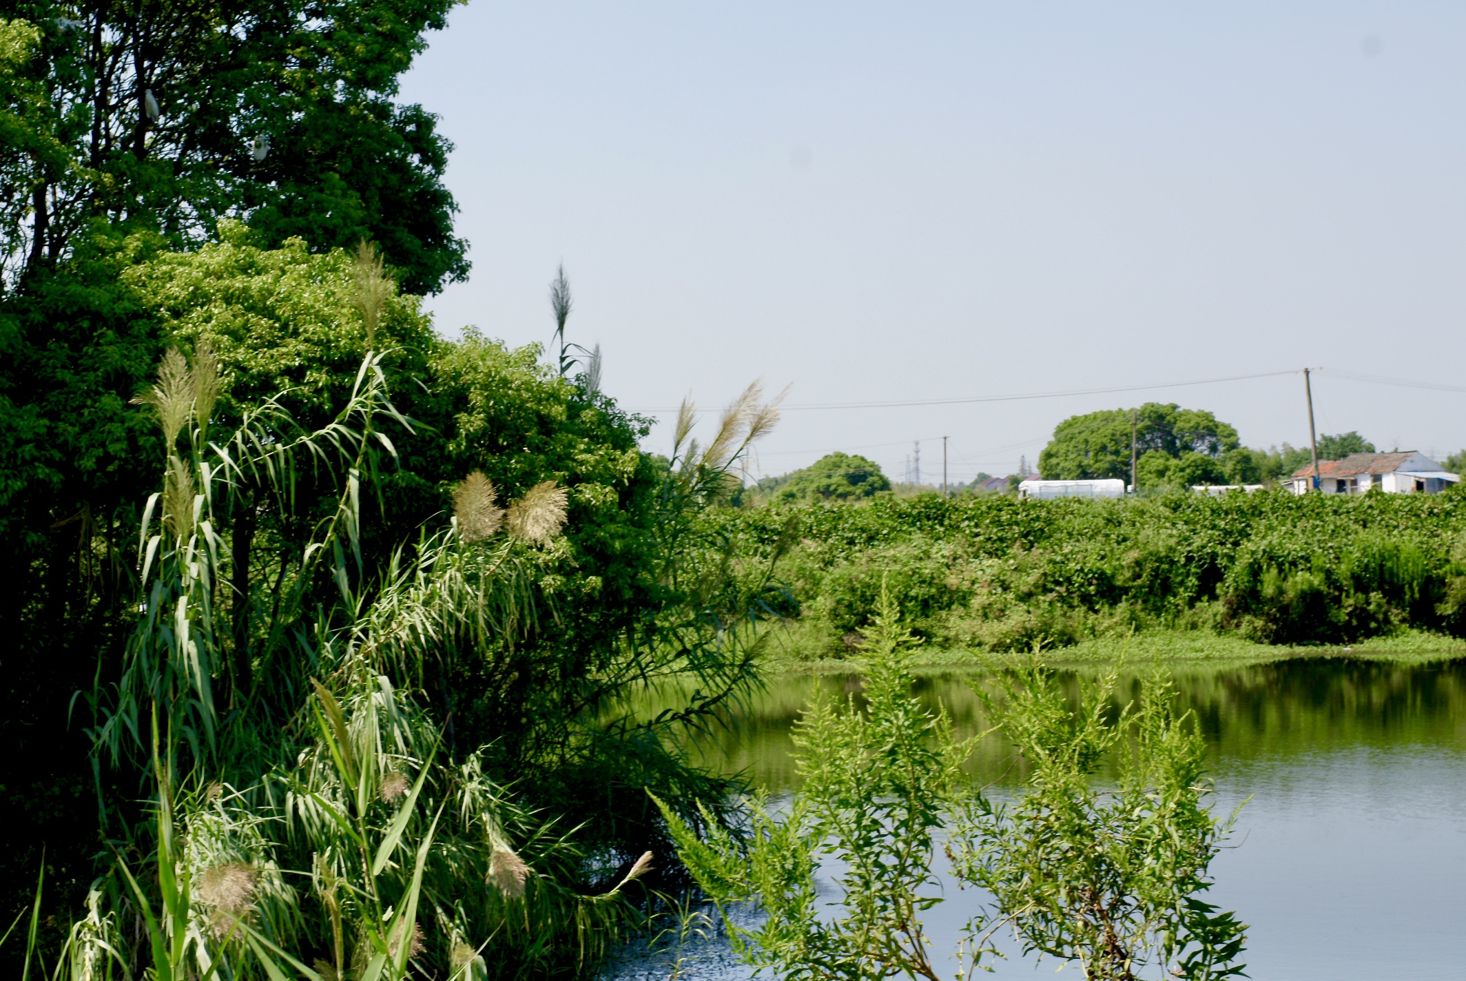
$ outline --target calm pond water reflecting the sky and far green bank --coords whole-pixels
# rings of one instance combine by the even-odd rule
[[[1217,809],[1250,798],[1233,845],[1212,862],[1211,902],[1250,924],[1248,974],[1258,981],[1466,978],[1466,661],[1421,666],[1308,658],[1179,669],[1217,779]],[[963,672],[924,675],[919,694],[959,729],[984,727]],[[1078,686],[1080,673],[1066,675]],[[1126,679],[1121,691],[1135,679]],[[783,676],[699,752],[774,793],[796,773],[789,729],[815,692],[859,698],[859,677]],[[648,702],[645,707],[655,710]],[[1013,786],[1009,746],[979,745],[973,779]],[[834,893],[831,892],[831,897]],[[972,893],[949,884],[928,915],[934,950],[956,946]],[[717,941],[688,949],[692,977],[742,978]],[[1054,977],[1053,960],[1012,956],[997,978]],[[622,978],[666,977],[632,952]],[[1079,978],[1076,968],[1057,977]]]

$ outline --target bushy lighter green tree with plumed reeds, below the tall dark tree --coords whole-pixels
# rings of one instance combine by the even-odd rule
[[[589,370],[437,337],[369,246],[224,223],[128,258],[113,289],[164,353],[130,400],[92,394],[133,456],[95,447],[113,488],[62,484],[100,518],[50,521],[13,611],[25,735],[53,739],[6,773],[34,827],[7,864],[44,856],[56,924],[25,956],[585,969],[667,852],[645,790],[695,817],[733,786],[679,733],[751,689],[781,597],[723,575],[698,516],[776,411],[751,387],[699,447],[689,406],[658,463]],[[617,708],[679,677],[674,711]]]

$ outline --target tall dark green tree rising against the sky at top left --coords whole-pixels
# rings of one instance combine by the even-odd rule
[[[396,103],[452,0],[0,3],[6,282],[70,257],[94,221],[173,246],[246,217],[261,243],[378,242],[410,293],[468,271],[437,117]],[[10,129],[10,126],[6,126]],[[21,145],[21,144],[12,144]]]

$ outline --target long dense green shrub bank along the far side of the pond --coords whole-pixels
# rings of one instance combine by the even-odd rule
[[[1466,496],[1136,500],[985,496],[746,509],[729,534],[798,544],[783,573],[821,650],[850,648],[881,576],[938,645],[1014,650],[1143,626],[1272,644],[1466,633]]]

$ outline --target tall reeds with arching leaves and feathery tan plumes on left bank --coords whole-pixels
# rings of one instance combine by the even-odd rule
[[[345,405],[315,431],[270,399],[242,406],[237,430],[220,433],[221,372],[204,343],[192,362],[170,350],[142,396],[167,452],[163,490],[141,525],[142,610],[120,676],[91,694],[89,736],[100,773],[123,786],[136,780],[154,807],[150,815],[104,801],[119,858],[92,886],[91,915],[63,946],[63,968],[116,960],[128,974],[150,966],[172,978],[198,965],[205,977],[271,980],[281,963],[314,978],[402,978],[409,962],[441,974],[476,965],[476,977],[554,972],[594,960],[635,918],[623,890],[648,870],[649,853],[610,889],[578,892],[595,878],[588,864],[625,846],[625,828],[601,831],[588,853],[576,828],[554,831],[554,815],[531,817],[493,776],[517,776],[504,773],[494,738],[523,733],[500,723],[498,733],[441,752],[452,741],[432,719],[432,686],[422,686],[435,664],[465,658],[494,672],[516,644],[535,645],[537,625],[556,607],[544,573],[564,557],[567,496],[541,482],[500,507],[475,472],[456,488],[447,526],[374,567],[364,559],[362,491],[383,460],[369,466],[369,458],[396,455],[384,425],[412,427],[387,399],[383,362],[365,356]],[[726,485],[771,424],[751,389],[707,450],[679,447],[658,512],[663,535],[696,538],[689,509]],[[321,518],[292,538],[306,474],[325,480],[333,499],[324,509],[308,499]],[[237,510],[230,519],[240,499],[255,515],[251,547],[277,565],[229,595],[217,587],[235,581],[242,554]],[[688,547],[670,543],[663,572],[676,575]],[[746,685],[749,661],[737,650],[752,623],[708,617],[721,610],[708,595],[680,620],[677,601],[651,610],[666,614],[660,631],[617,648],[611,679],[566,672],[560,694],[588,704],[547,702],[559,713],[547,729],[573,752],[635,743],[641,770],[617,777],[661,789],[690,812],[689,787],[723,785],[670,746],[718,698],[695,698],[635,732],[616,729],[607,702],[648,680],[689,676],[717,697]],[[157,874],[135,875],[128,853],[154,855]],[[141,938],[119,927],[126,906],[144,916]]]

